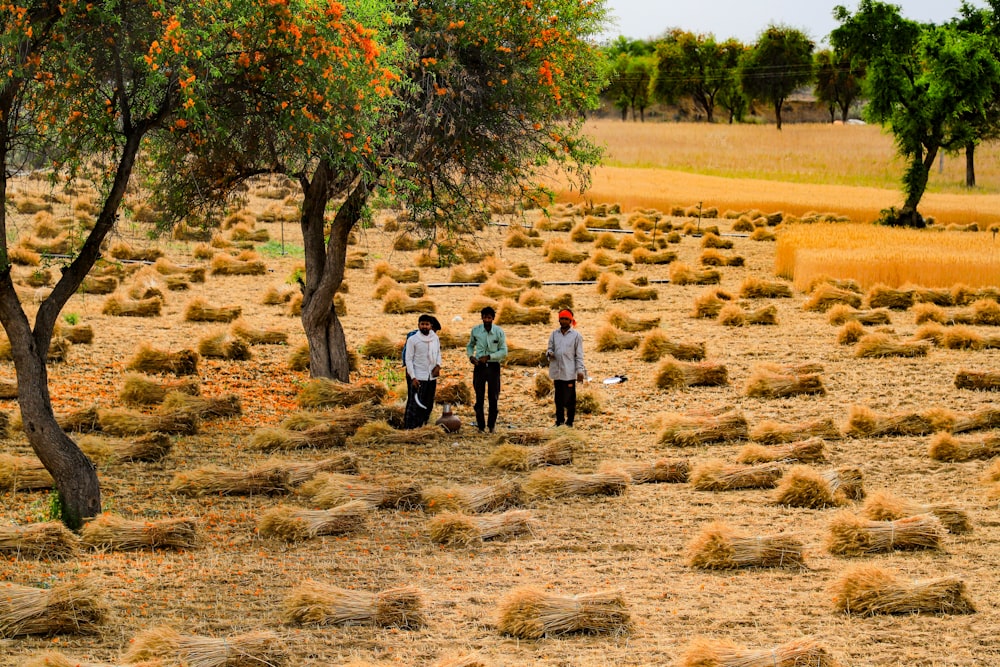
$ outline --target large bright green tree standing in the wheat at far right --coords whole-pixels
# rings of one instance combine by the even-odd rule
[[[888,222],[922,227],[917,210],[940,151],[957,150],[975,136],[1000,82],[991,40],[954,26],[919,24],[894,5],[862,0],[851,14],[834,10],[840,26],[834,46],[867,61],[867,116],[888,124],[906,160],[902,209]]]

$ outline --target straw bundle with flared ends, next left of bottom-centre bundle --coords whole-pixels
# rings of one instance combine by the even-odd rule
[[[308,582],[293,589],[282,604],[291,625],[374,625],[416,629],[425,624],[423,593],[413,586],[378,593]]]

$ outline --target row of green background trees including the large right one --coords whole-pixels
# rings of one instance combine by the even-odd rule
[[[804,86],[831,122],[846,121],[863,101],[863,117],[892,131],[907,165],[905,202],[884,218],[921,227],[917,206],[934,160],[964,152],[966,185],[974,187],[976,146],[1000,137],[1000,0],[986,4],[963,2],[941,25],[907,19],[879,0],[861,0],[853,13],[837,6],[832,48],[819,51],[783,25],[769,26],[753,44],[680,29],[651,40],[618,37],[604,48],[603,94],[622,120],[644,120],[655,103],[687,102],[706,122],[721,110],[738,123],[754,103],[767,104],[779,130],[789,95]]]

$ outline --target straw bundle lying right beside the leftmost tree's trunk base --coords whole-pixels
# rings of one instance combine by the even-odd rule
[[[193,518],[129,521],[105,512],[88,521],[80,541],[91,549],[191,549],[198,546],[198,520]]]

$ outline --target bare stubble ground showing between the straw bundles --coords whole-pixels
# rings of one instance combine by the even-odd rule
[[[260,212],[272,200],[251,197]],[[30,227],[30,217],[21,218]],[[728,232],[730,221],[717,221]],[[415,252],[393,251],[395,234],[374,228],[361,234],[355,249],[368,253],[363,269],[347,274],[347,314],[343,318],[350,345],[358,348],[373,334],[402,340],[415,327],[416,315],[385,315],[371,297],[373,266],[386,259],[394,266],[413,266]],[[272,240],[279,223],[260,223]],[[485,230],[477,239],[483,249],[495,249],[506,264],[526,262],[542,281],[572,280],[576,267],[543,260],[540,249],[504,247],[507,228]],[[289,246],[298,243],[294,223],[285,223]],[[543,232],[545,239],[565,232]],[[140,235],[129,240],[139,242]],[[732,238],[745,266],[726,267],[721,287],[738,294],[749,276],[773,280],[774,244]],[[679,260],[696,266],[701,239],[685,236],[676,246]],[[167,256],[186,266],[207,261],[192,256],[194,242],[161,241]],[[579,250],[592,244],[572,244]],[[158,463],[102,465],[99,475],[108,511],[127,518],[154,520],[197,517],[203,541],[184,551],[84,553],[69,561],[0,556],[0,581],[49,586],[86,578],[104,591],[113,614],[96,635],[63,635],[0,640],[0,663],[22,664],[30,656],[58,650],[82,662],[120,664],[129,641],[142,630],[169,624],[185,634],[223,637],[261,629],[287,640],[288,665],[436,665],[476,654],[486,665],[654,665],[679,661],[697,636],[728,639],[764,648],[812,637],[824,643],[844,665],[992,665],[1000,663],[997,627],[1000,589],[995,585],[1000,556],[1000,513],[996,501],[985,500],[980,476],[987,462],[939,463],[927,455],[927,436],[845,438],[827,443],[830,460],[819,467],[857,466],[869,493],[888,490],[920,502],[953,501],[971,515],[974,529],[948,535],[940,551],[895,552],[867,558],[831,555],[824,547],[827,525],[836,509],[808,510],[774,503],[773,491],[696,491],[689,484],[632,485],[619,496],[570,497],[528,502],[538,520],[533,534],[490,541],[469,548],[442,547],[427,535],[428,515],[420,510],[378,510],[364,529],[347,536],[319,537],[286,543],[264,538],[256,520],[281,503],[307,504],[290,497],[173,495],[167,487],[174,474],[219,465],[247,469],[270,458],[248,446],[259,427],[275,426],[296,410],[295,397],[308,379],[289,370],[293,347],[304,342],[297,318],[286,307],[262,305],[265,291],[281,287],[301,261],[294,256],[266,257],[268,274],[256,277],[209,275],[187,292],[167,292],[163,312],[152,318],[122,318],[101,314],[105,297],[80,295],[64,312],[76,313],[94,327],[92,345],[77,345],[69,361],[53,364],[50,381],[57,411],[120,405],[117,398],[125,364],[138,345],[149,342],[172,350],[196,344],[208,332],[225,325],[190,323],[183,319],[188,301],[203,297],[213,305],[241,305],[244,317],[261,327],[280,328],[289,345],[254,346],[250,361],[202,360],[202,393],[236,393],[243,415],[207,421],[193,436],[175,437],[171,454]],[[24,272],[24,269],[17,269]],[[626,273],[666,278],[667,266],[637,265]],[[448,268],[420,268],[424,283],[447,281]],[[656,284],[655,301],[611,302],[593,285],[548,286],[547,295],[571,291],[578,328],[584,336],[591,387],[602,398],[600,414],[578,417],[581,446],[571,469],[591,472],[602,461],[650,462],[682,458],[692,465],[721,458],[732,462],[745,442],[676,448],[657,443],[657,418],[663,414],[709,414],[741,410],[751,428],[764,420],[795,423],[832,418],[847,422],[853,405],[878,413],[948,408],[969,412],[993,406],[995,394],[958,390],[954,377],[962,368],[996,369],[997,350],[967,351],[932,348],[923,358],[857,359],[853,348],[837,343],[838,327],[826,315],[803,310],[807,296],[745,302],[749,307],[773,303],[776,326],[722,326],[691,316],[694,300],[705,286]],[[466,335],[478,322],[468,304],[480,296],[474,287],[434,287],[430,298],[445,328]],[[27,292],[26,292],[27,294]],[[656,364],[639,361],[634,350],[595,351],[597,331],[605,312],[624,307],[637,316],[657,315],[671,339],[704,341],[707,358],[726,366],[729,384],[664,391],[653,382]],[[510,342],[544,347],[550,325],[510,325]],[[891,327],[901,338],[916,330],[914,316],[894,311]],[[978,328],[978,327],[977,327]],[[980,328],[980,333],[990,333]],[[444,353],[443,375],[471,385],[471,368],[464,350]],[[757,364],[814,362],[823,366],[825,395],[785,399],[748,398],[744,386]],[[13,368],[3,362],[4,375]],[[394,364],[364,360],[358,378],[386,379],[398,372]],[[534,376],[543,369],[507,367],[503,371],[498,431],[552,424],[551,399],[536,400]],[[628,381],[604,386],[601,380],[625,375]],[[397,386],[397,390],[400,387]],[[12,400],[2,409],[16,411]],[[458,406],[462,430],[427,445],[354,449],[365,474],[388,473],[420,486],[488,484],[522,479],[527,473],[505,473],[485,464],[496,443],[468,423],[470,406]],[[436,418],[437,410],[432,419]],[[11,434],[0,452],[27,454],[23,435]],[[301,450],[280,458],[318,460],[328,451]],[[5,523],[41,521],[46,517],[47,492],[3,492],[0,520]],[[859,510],[860,503],[851,509]],[[686,564],[688,542],[707,523],[724,521],[749,535],[792,533],[805,544],[806,567],[703,571]],[[955,575],[966,584],[978,612],[970,615],[902,615],[856,617],[832,606],[831,585],[852,565],[868,562],[897,571],[903,579]],[[299,584],[318,581],[346,588],[379,591],[413,585],[424,595],[427,623],[415,630],[356,627],[295,627],[281,622],[284,599]],[[497,629],[499,602],[525,585],[561,595],[617,590],[632,618],[629,632],[615,635],[566,635],[518,640]],[[763,664],[763,663],[762,663]]]

